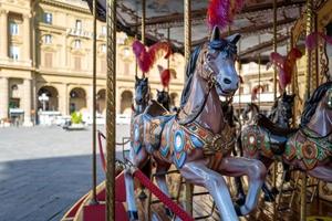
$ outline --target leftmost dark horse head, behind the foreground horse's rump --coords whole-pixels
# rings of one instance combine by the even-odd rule
[[[135,77],[135,103],[136,105],[145,105],[149,99],[148,78]]]

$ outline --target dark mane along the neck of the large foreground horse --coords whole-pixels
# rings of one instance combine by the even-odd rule
[[[196,63],[198,60],[198,55],[201,51],[203,45],[196,46],[196,49],[194,50],[194,52],[190,55],[190,60],[187,63],[186,66],[186,82],[185,82],[185,87],[183,90],[183,94],[181,94],[181,99],[180,99],[180,107],[184,107],[185,104],[188,101],[189,94],[190,94],[190,90],[191,90],[191,84],[193,84],[193,76],[194,76],[194,72],[196,69]]]

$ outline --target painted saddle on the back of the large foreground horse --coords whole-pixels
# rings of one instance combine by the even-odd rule
[[[149,144],[148,149],[158,149],[163,129],[167,122],[174,118],[158,102],[152,99],[144,110],[145,120],[145,140]]]

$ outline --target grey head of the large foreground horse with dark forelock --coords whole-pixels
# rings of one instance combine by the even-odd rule
[[[238,90],[239,76],[235,67],[237,59],[236,44],[240,34],[234,34],[226,39],[220,36],[218,27],[214,28],[210,41],[200,56],[203,71],[200,76],[210,86],[215,86],[219,96],[231,96]]]

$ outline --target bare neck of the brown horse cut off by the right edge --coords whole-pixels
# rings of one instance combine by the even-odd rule
[[[332,116],[329,110],[322,108],[320,104],[307,124],[307,127],[321,136],[326,136],[332,131]]]

